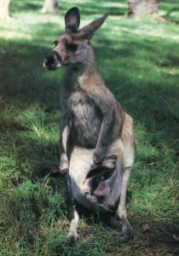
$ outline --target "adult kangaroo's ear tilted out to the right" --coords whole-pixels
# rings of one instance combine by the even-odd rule
[[[107,19],[108,14],[103,15],[101,18],[92,21],[89,25],[84,26],[80,31],[79,34],[84,38],[90,39],[94,35],[95,31],[101,27],[103,22]]]

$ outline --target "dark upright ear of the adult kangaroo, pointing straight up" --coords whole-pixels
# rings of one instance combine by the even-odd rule
[[[73,7],[66,12],[65,15],[66,32],[78,32],[80,24],[79,9]]]

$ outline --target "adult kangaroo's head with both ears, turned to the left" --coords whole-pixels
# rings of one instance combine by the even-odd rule
[[[90,39],[102,25],[107,15],[79,29],[79,9],[73,7],[66,12],[66,31],[55,40],[55,48],[44,57],[43,67],[55,70],[62,66],[78,66],[87,63],[90,55]]]

